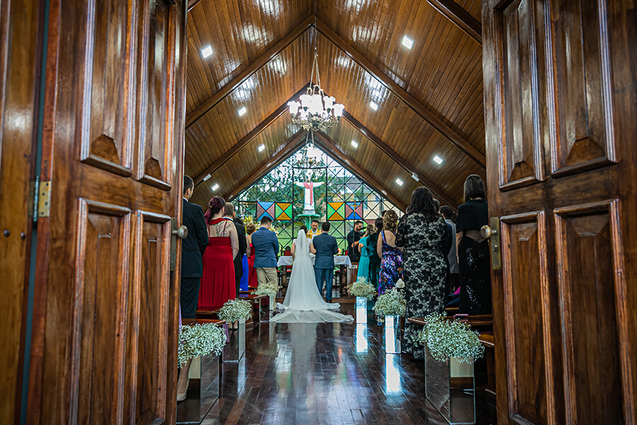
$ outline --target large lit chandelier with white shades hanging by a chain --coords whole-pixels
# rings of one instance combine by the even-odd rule
[[[326,96],[321,89],[321,77],[319,77],[319,53],[314,49],[314,63],[310,85],[299,101],[287,103],[289,113],[292,115],[292,123],[300,125],[306,131],[325,131],[338,124],[343,115],[345,106],[334,103],[333,96]],[[316,70],[316,84],[314,84],[314,70]]]

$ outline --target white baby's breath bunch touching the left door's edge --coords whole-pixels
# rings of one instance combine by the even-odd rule
[[[191,358],[214,353],[219,356],[226,345],[226,332],[214,323],[183,326],[179,332],[177,361],[185,365]]]

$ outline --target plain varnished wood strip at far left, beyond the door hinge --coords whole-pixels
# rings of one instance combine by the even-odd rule
[[[0,423],[20,420],[35,137],[42,55],[40,0],[0,1]]]

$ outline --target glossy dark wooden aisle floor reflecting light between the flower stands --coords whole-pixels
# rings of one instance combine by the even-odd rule
[[[376,324],[262,323],[247,339],[202,424],[447,423],[425,399],[423,363],[386,356]]]

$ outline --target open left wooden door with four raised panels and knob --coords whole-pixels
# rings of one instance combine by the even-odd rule
[[[29,423],[175,421],[185,8],[50,2]]]

